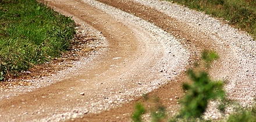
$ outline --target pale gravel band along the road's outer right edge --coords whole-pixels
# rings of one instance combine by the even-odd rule
[[[209,38],[215,40],[219,49],[216,52],[221,57],[221,64],[212,65],[211,76],[214,79],[225,80],[227,98],[237,100],[242,106],[255,103],[256,95],[256,42],[244,31],[225,24],[219,19],[205,15],[202,12],[190,10],[184,6],[166,1],[134,0],[143,5],[151,6],[170,17],[189,24],[192,31],[202,31]],[[221,66],[219,69],[218,66]],[[217,69],[215,67],[218,67]],[[216,105],[212,103],[212,110],[205,115],[212,119],[221,117]],[[215,107],[213,107],[215,106]],[[215,110],[213,110],[215,109]],[[230,113],[230,112],[226,112]]]

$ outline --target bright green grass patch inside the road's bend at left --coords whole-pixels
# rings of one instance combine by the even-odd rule
[[[0,80],[69,47],[74,21],[35,0],[0,1]]]

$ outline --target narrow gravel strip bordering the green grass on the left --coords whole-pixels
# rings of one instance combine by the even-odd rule
[[[69,64],[72,67],[66,67],[65,70],[58,71],[57,74],[51,74],[49,77],[38,77],[33,78],[29,80],[23,80],[23,79],[12,79],[10,81],[26,81],[31,83],[28,86],[20,86],[20,85],[12,85],[12,87],[9,87],[8,89],[2,88],[0,91],[0,100],[1,99],[8,99],[12,96],[24,94],[26,92],[31,92],[34,89],[46,87],[48,85],[54,84],[55,82],[61,81],[63,79],[73,77],[77,75],[77,72],[81,70],[84,66],[90,66],[90,63],[93,61],[93,59],[100,55],[101,52],[105,51],[105,48],[107,46],[107,42],[105,40],[105,37],[101,34],[100,31],[95,30],[95,28],[87,25],[87,24],[81,24],[80,26],[76,27],[76,35],[81,37],[94,37],[94,41],[87,43],[88,48],[98,48],[97,51],[89,52],[87,55],[81,57],[80,60],[72,60],[71,62],[61,62],[58,65],[65,65]],[[87,38],[83,38],[84,40],[87,40]]]

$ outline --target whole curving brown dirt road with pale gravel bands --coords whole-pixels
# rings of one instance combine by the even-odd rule
[[[170,99],[183,95],[184,72],[203,49],[221,56],[209,71],[228,81],[227,96],[253,103],[256,43],[219,20],[164,1],[52,0],[48,6],[93,28],[107,46],[78,68],[45,78],[54,81],[45,87],[1,91],[1,121],[130,121],[133,104],[148,92],[175,111],[177,99]]]

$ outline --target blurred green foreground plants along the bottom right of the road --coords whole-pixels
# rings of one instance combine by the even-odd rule
[[[227,119],[218,121],[256,121],[256,106],[250,108],[243,108],[234,101],[225,98],[225,91],[223,90],[224,81],[211,80],[207,69],[211,67],[211,63],[218,59],[218,55],[213,51],[202,52],[201,58],[203,62],[195,63],[195,69],[187,71],[191,82],[183,83],[184,97],[180,100],[181,109],[176,116],[168,116],[165,106],[155,101],[155,106],[146,110],[142,103],[137,103],[135,111],[131,119],[135,122],[142,121],[141,116],[147,112],[151,112],[151,121],[211,121],[202,118],[207,109],[209,101],[219,101],[218,109],[220,112],[225,112],[226,107],[235,105],[236,111]],[[143,98],[148,101],[147,95]],[[215,120],[216,121],[216,120]]]

